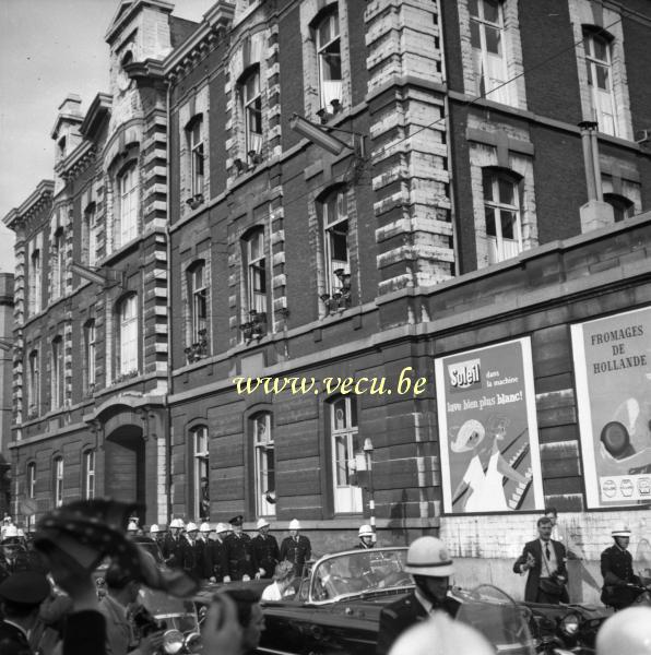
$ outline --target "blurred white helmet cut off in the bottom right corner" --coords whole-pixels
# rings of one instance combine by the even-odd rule
[[[604,621],[596,633],[596,655],[614,653],[651,653],[651,607],[628,607]]]

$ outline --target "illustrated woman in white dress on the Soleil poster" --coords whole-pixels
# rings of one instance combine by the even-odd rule
[[[454,439],[450,440],[453,453],[472,452],[465,473],[452,495],[452,504],[465,492],[464,512],[509,511],[504,492],[505,476],[511,480],[529,484],[530,478],[508,464],[499,450],[506,436],[507,419],[489,420],[490,433],[486,438],[484,426],[476,419],[466,420]]]

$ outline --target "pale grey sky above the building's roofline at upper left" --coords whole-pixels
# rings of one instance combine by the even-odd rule
[[[174,0],[173,0],[174,1]],[[214,0],[177,0],[199,22]],[[108,91],[104,36],[119,0],[0,0],[0,218],[52,178],[50,138],[68,93],[82,112]],[[13,233],[0,224],[0,272],[13,272]]]

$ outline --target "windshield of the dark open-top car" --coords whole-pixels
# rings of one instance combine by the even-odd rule
[[[312,572],[312,602],[403,588],[412,583],[405,572],[406,548],[342,552],[321,559]]]

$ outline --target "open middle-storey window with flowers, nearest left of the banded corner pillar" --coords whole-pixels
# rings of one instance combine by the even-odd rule
[[[342,273],[351,273],[348,212],[344,191],[334,191],[322,203],[326,293],[342,290]],[[336,274],[335,274],[336,272]]]

